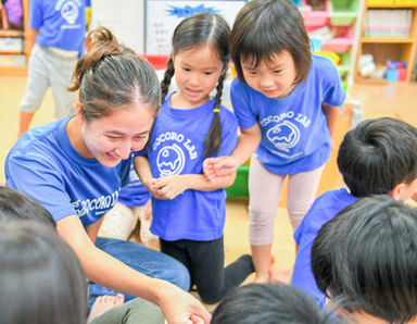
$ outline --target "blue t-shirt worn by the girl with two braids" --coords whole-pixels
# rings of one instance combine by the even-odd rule
[[[203,174],[204,138],[214,113],[214,100],[192,109],[161,107],[148,159],[154,178],[176,174]],[[237,121],[220,107],[223,126],[218,155],[230,154],[238,142]],[[173,200],[152,198],[151,232],[165,240],[213,240],[223,235],[226,191],[186,190]]]

